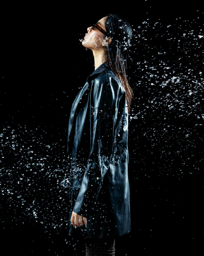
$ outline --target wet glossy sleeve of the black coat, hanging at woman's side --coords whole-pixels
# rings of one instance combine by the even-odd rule
[[[73,212],[90,216],[107,173],[113,150],[119,88],[112,83],[95,84],[91,95],[90,156]]]

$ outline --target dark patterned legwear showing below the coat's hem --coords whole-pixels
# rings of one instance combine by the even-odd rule
[[[114,256],[115,240],[102,238],[85,238],[86,256]]]

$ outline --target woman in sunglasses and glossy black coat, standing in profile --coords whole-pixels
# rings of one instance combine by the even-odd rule
[[[95,71],[72,104],[71,165],[62,185],[69,187],[69,235],[85,237],[86,255],[95,255],[96,243],[104,251],[100,255],[114,255],[115,238],[131,231],[127,140],[133,91],[126,76],[131,36],[129,23],[109,14],[81,39],[93,52]]]

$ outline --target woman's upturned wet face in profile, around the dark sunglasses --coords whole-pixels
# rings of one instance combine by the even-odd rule
[[[107,17],[100,19],[97,24],[106,31],[105,22]],[[107,44],[106,36],[97,28],[91,29],[92,26],[87,28],[88,33],[85,34],[82,45],[92,50],[102,50]]]

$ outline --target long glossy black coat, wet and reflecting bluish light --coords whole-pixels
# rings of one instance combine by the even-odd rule
[[[69,235],[107,238],[131,230],[128,182],[126,93],[113,71],[102,64],[72,104],[68,124],[69,211],[87,217],[87,227]]]

